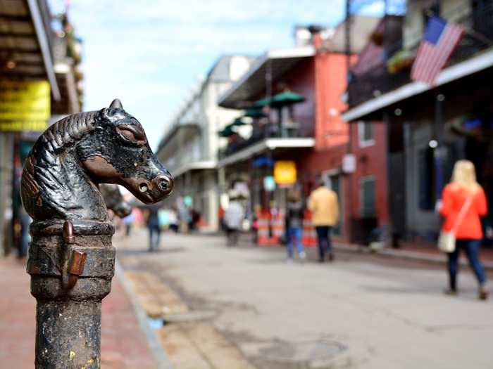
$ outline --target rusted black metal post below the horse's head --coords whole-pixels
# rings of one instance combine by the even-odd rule
[[[100,368],[101,299],[111,291],[115,264],[113,226],[37,223],[31,234],[27,273],[37,299],[35,368]]]

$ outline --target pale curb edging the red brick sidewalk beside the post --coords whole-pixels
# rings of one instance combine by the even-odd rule
[[[142,329],[142,332],[144,332],[144,335],[146,336],[147,343],[149,344],[149,348],[151,349],[152,356],[154,356],[154,360],[156,361],[157,368],[173,369],[173,365],[171,365],[171,362],[168,359],[168,356],[166,355],[166,351],[164,351],[163,347],[161,346],[161,342],[159,341],[158,335],[149,326],[149,323],[147,323],[146,313],[144,312],[144,309],[142,309],[142,306],[140,306],[137,300],[137,296],[135,295],[134,291],[132,290],[132,287],[130,286],[130,283],[125,277],[125,272],[123,271],[123,267],[121,266],[118,259],[115,260],[115,271],[118,280],[123,286],[123,290],[125,290],[125,293],[130,299],[130,303],[132,304],[132,307],[135,311],[135,315],[137,316],[137,321],[139,321],[140,328]]]

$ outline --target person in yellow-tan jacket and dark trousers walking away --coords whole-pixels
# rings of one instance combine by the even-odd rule
[[[318,261],[325,261],[325,254],[329,260],[334,260],[334,253],[330,245],[330,230],[339,223],[339,200],[337,194],[325,186],[323,179],[318,180],[318,188],[313,190],[308,200],[308,209],[312,213],[312,222],[318,238]]]

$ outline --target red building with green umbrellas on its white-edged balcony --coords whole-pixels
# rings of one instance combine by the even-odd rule
[[[357,16],[353,22],[361,39],[373,31],[379,19]],[[331,32],[310,29],[308,42],[266,52],[220,97],[218,103],[225,108],[251,108],[270,97],[273,103],[263,107],[266,117],[252,124],[254,133],[263,133],[252,134],[220,153],[218,166],[224,172],[226,188],[234,188],[238,182],[248,184],[247,213],[250,214],[258,209],[282,212],[289,188],[301,188],[307,198],[316,186],[317,177],[322,176],[327,186],[339,195],[342,221],[335,229],[336,238],[363,242],[369,233],[368,224],[373,228],[385,226],[388,219],[386,199],[382,196],[386,191],[385,149],[382,148],[385,131],[368,131],[365,127],[373,126],[364,125],[361,134],[366,134],[368,139],[361,141],[354,127],[341,118],[347,108],[343,101],[347,67],[356,63],[356,53],[364,44],[355,42],[354,53],[348,56],[344,48],[344,23]],[[297,93],[303,100],[280,107],[275,99],[283,91]],[[289,112],[288,117],[285,112]],[[289,130],[292,124],[296,129],[283,128],[287,125]],[[354,134],[356,138],[352,138]],[[344,171],[347,154],[354,157],[356,165]],[[275,190],[266,188],[266,177],[273,175],[276,161],[294,162],[296,183],[277,186]],[[355,195],[360,192],[361,196]],[[357,234],[356,228],[361,228]]]

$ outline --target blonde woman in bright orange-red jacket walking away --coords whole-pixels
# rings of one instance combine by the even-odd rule
[[[464,209],[463,209],[464,207]],[[463,209],[462,219],[456,223],[458,214]],[[469,160],[459,160],[454,166],[452,181],[445,186],[442,193],[440,214],[444,216],[443,231],[450,232],[455,227],[456,248],[449,255],[449,294],[457,293],[456,278],[458,270],[458,253],[466,250],[469,264],[478,278],[479,298],[487,299],[485,271],[479,261],[482,240],[481,217],[487,214],[485,191],[476,181],[474,164]]]

